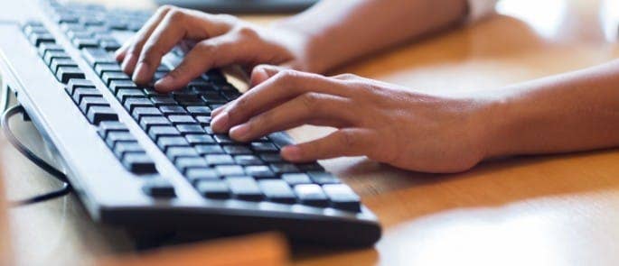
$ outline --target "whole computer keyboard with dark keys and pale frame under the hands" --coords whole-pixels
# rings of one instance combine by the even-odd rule
[[[16,2],[16,1],[13,1]],[[235,142],[211,110],[240,96],[219,69],[164,94],[136,85],[113,57],[151,13],[26,0],[3,4],[3,78],[50,144],[89,215],[144,232],[283,232],[370,245],[380,224],[317,162],[284,161],[286,133]],[[162,78],[183,59],[165,55]]]

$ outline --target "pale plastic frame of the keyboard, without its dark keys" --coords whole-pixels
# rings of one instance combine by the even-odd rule
[[[0,71],[95,221],[154,231],[204,230],[205,225],[230,233],[282,230],[295,239],[344,245],[369,245],[380,238],[377,217],[362,205],[360,213],[352,213],[330,207],[202,197],[117,102],[41,6],[36,0],[4,4],[0,36],[11,36],[14,41],[0,41]],[[127,171],[98,136],[97,127],[80,113],[23,35],[21,27],[29,20],[41,21],[78,63],[155,161],[160,174],[174,184],[177,197],[160,199],[141,193],[149,177]],[[286,133],[274,136],[290,141]]]

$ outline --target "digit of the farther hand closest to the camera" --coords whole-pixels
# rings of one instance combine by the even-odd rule
[[[241,45],[242,43],[226,35],[199,42],[184,57],[181,64],[155,82],[155,89],[169,92],[187,85],[193,78],[209,69],[229,65],[244,56],[245,53],[240,49]]]

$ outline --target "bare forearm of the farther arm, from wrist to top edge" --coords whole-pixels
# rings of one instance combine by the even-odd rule
[[[320,73],[458,23],[466,10],[465,0],[324,0],[275,26],[308,36],[299,69]]]

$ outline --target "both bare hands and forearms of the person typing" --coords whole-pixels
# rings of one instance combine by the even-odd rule
[[[146,83],[164,53],[195,42],[183,63],[155,83],[160,91],[214,67],[253,68],[252,89],[214,110],[211,127],[243,142],[301,124],[337,128],[283,148],[288,161],[366,155],[407,170],[458,172],[493,157],[619,145],[618,61],[452,95],[314,74],[459,23],[465,14],[462,0],[328,0],[264,28],[164,7],[117,51],[117,60],[136,83]]]

